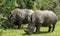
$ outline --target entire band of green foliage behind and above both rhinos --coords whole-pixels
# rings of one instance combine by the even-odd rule
[[[6,17],[11,10],[17,7],[20,9],[32,10],[53,10],[60,16],[59,0],[0,0],[0,15],[2,14],[2,17]]]

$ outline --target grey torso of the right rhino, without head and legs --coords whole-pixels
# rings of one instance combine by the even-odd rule
[[[49,24],[53,24],[57,21],[57,16],[53,11],[48,11],[48,10],[44,10],[44,11],[40,11],[37,10],[35,11],[35,13],[32,15],[32,18],[39,22],[39,23],[43,23],[43,25],[49,25]],[[32,20],[32,21],[35,21]]]

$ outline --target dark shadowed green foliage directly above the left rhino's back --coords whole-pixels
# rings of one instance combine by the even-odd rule
[[[34,5],[33,0],[17,0],[17,4],[20,8],[32,9]]]

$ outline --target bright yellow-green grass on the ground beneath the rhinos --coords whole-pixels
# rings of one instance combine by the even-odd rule
[[[60,36],[60,21],[57,22],[54,32],[47,33],[48,28],[42,27],[40,29],[41,33],[27,35],[24,32],[25,28],[26,28],[25,25],[23,25],[22,29],[6,29],[6,30],[4,30],[3,28],[0,28],[0,36]]]

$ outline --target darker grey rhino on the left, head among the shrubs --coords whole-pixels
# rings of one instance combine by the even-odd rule
[[[10,28],[13,26],[18,26],[18,29],[21,27],[22,24],[26,24],[30,21],[30,17],[33,13],[33,10],[30,9],[19,9],[16,8],[11,11],[8,16],[8,20],[2,26],[5,28]]]

